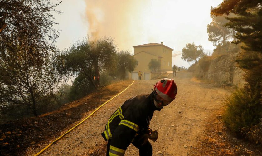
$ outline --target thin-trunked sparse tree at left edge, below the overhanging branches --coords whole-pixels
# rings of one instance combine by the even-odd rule
[[[27,105],[33,110],[33,114],[37,115],[37,105],[43,101],[46,101],[45,105],[52,102],[47,99],[54,95],[53,90],[60,77],[51,62],[36,67],[30,66],[28,61],[30,61],[28,53],[20,51],[19,48],[1,54],[0,104],[2,106]]]

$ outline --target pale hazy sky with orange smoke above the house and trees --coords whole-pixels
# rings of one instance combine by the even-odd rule
[[[132,46],[160,43],[182,51],[187,43],[213,50],[206,26],[211,22],[210,7],[223,0],[64,0],[56,7],[55,26],[60,31],[56,46],[63,50],[77,39],[113,37],[119,50],[134,52]],[[53,0],[53,2],[58,2]],[[188,67],[181,60],[173,64]]]

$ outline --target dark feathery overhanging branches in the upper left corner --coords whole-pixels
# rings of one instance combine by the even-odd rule
[[[1,51],[19,46],[21,51],[27,53],[28,64],[44,64],[50,53],[56,51],[53,43],[59,32],[52,28],[58,24],[54,22],[52,12],[61,14],[54,9],[58,4],[46,0],[0,1]]]

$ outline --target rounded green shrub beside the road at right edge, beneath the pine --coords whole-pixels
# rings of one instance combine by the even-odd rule
[[[246,136],[247,129],[260,122],[262,115],[261,101],[258,100],[258,91],[253,94],[246,89],[239,88],[226,97],[226,106],[223,114],[225,125],[237,135]],[[246,130],[244,130],[246,129]]]

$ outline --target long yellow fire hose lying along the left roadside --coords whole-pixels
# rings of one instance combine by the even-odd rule
[[[135,80],[131,83],[131,85],[133,85],[133,83],[135,82]],[[73,128],[71,128],[69,131],[65,132],[65,134],[69,133],[71,130],[73,130],[75,127],[77,127],[78,125],[82,124],[86,119],[88,119],[91,115],[93,115],[99,108],[103,107],[106,103],[108,103],[109,101],[111,101],[112,99],[114,99],[115,97],[117,97],[118,95],[120,95],[121,93],[123,93],[125,90],[127,90],[131,85],[129,85],[126,89],[124,89],[123,91],[121,91],[119,94],[115,95],[114,97],[112,97],[110,100],[106,101],[103,105],[100,105],[95,111],[93,111],[90,115],[88,115],[88,117],[86,117],[83,121],[81,121],[79,124],[75,125]],[[63,136],[65,136],[65,134],[61,135],[59,138],[57,138],[56,140],[54,140],[53,142],[51,142],[49,145],[47,145],[44,149],[42,149],[40,152],[38,152],[35,156],[41,154],[42,152],[44,152],[48,147],[50,147],[52,144],[54,144],[56,141],[58,141],[59,139],[61,139]]]

